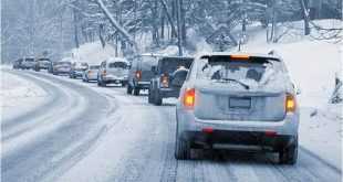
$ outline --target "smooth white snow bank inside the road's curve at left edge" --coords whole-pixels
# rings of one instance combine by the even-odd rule
[[[1,72],[1,120],[25,114],[44,103],[46,93],[41,87],[2,68]]]

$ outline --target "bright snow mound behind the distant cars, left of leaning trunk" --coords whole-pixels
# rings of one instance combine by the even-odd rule
[[[101,42],[86,43],[80,46],[80,49],[73,49],[72,53],[74,60],[80,62],[86,62],[89,64],[100,64],[108,57],[115,56],[115,49],[106,44],[105,47],[102,46]]]

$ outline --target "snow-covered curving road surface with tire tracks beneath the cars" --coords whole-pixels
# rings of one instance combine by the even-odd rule
[[[278,164],[272,154],[227,151],[177,161],[175,100],[157,107],[124,88],[7,72],[29,78],[51,97],[34,114],[1,122],[2,181],[336,182],[342,176],[303,148],[293,167]]]

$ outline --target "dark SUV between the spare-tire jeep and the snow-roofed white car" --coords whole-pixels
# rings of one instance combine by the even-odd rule
[[[157,65],[158,56],[143,54],[132,61],[128,73],[127,94],[139,95],[141,89],[149,89],[150,79],[154,77],[152,67]]]

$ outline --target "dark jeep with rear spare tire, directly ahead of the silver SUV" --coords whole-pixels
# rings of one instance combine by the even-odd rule
[[[150,79],[148,103],[162,105],[163,98],[179,96],[193,57],[162,57],[157,66],[152,67],[154,77]]]

